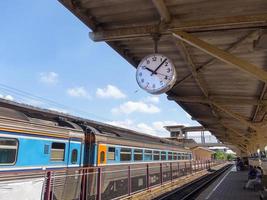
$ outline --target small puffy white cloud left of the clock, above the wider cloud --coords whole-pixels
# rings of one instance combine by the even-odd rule
[[[107,87],[103,89],[97,88],[96,96],[100,98],[113,98],[113,99],[126,98],[126,95],[114,85],[107,85]]]

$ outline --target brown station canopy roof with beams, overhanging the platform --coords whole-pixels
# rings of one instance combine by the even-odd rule
[[[266,0],[60,0],[134,67],[154,52],[175,64],[167,92],[219,140],[266,141]]]

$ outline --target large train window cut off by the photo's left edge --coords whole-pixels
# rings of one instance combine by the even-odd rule
[[[0,138],[0,165],[13,165],[16,162],[18,141],[11,138]]]

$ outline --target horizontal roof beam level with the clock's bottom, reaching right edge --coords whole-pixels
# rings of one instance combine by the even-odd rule
[[[201,96],[168,96],[169,100],[175,100],[179,102],[186,103],[205,103],[208,104],[210,100],[213,100],[221,105],[267,105],[267,100],[259,99],[244,99],[242,97],[220,97],[220,96],[210,96],[209,99]]]

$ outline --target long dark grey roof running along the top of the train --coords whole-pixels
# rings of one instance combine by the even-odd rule
[[[7,112],[7,109],[9,110]],[[180,143],[171,141],[168,139],[151,136],[145,133],[140,133],[134,130],[109,125],[106,123],[85,119],[82,117],[73,116],[66,113],[34,107],[27,104],[17,103],[0,98],[0,115],[4,115],[10,118],[16,118],[25,121],[34,121],[42,124],[54,124],[59,125],[59,121],[66,121],[68,126],[74,129],[79,129],[77,125],[90,126],[95,128],[98,132],[96,134],[107,135],[111,137],[117,137],[122,139],[134,140],[134,141],[145,141],[147,143],[162,144],[162,145],[175,145],[182,147]]]

